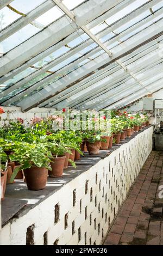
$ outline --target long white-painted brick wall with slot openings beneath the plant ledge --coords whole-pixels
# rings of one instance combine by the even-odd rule
[[[0,244],[26,245],[27,228],[34,224],[34,245],[43,245],[43,236],[46,232],[48,245],[53,245],[56,241],[58,245],[100,245],[107,234],[109,219],[111,224],[130,186],[152,151],[152,133],[153,127],[143,131],[61,187],[26,215],[5,225],[0,231]],[[86,181],[88,183],[85,194]],[[76,203],[73,206],[74,190]],[[59,220],[54,223],[54,208],[57,204],[60,208]],[[66,214],[68,218],[65,229]]]

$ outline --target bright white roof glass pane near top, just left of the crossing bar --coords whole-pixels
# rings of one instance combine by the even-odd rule
[[[57,6],[55,6],[50,10],[46,11],[46,13],[42,14],[40,17],[38,17],[36,21],[47,26],[63,15],[64,14],[62,13],[62,11]]]

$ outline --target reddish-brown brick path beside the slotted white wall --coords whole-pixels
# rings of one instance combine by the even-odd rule
[[[104,245],[163,245],[163,152],[152,151],[131,187]],[[162,192],[163,196],[163,192]]]

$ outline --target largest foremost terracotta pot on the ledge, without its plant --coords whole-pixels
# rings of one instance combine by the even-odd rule
[[[28,190],[43,190],[46,187],[48,169],[33,166],[23,172]]]

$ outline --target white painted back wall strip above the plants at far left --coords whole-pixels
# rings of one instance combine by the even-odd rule
[[[24,119],[27,124],[33,117],[46,118],[52,115],[55,108],[32,108],[30,111],[22,112],[20,107],[3,107],[5,113],[1,115],[0,125],[8,125],[10,120],[16,120],[18,117]]]

